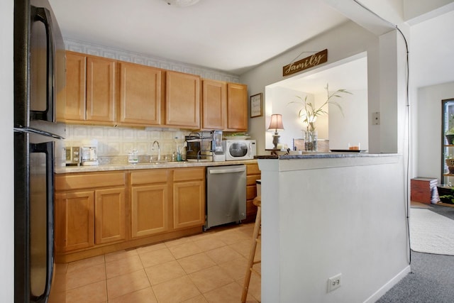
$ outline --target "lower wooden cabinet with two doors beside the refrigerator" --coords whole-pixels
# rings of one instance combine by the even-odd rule
[[[125,241],[125,185],[124,172],[57,175],[57,253]]]

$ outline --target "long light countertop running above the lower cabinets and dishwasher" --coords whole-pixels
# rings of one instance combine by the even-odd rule
[[[222,165],[238,165],[257,163],[257,160],[241,160],[241,161],[219,161],[219,162],[141,162],[137,164],[102,164],[93,166],[66,166],[55,167],[56,174],[67,174],[72,172],[106,172],[111,170],[150,170],[154,168],[181,168],[181,167],[201,167],[201,166],[222,166]]]

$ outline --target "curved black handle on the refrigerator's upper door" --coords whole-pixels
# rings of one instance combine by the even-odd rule
[[[44,7],[31,6],[31,22],[43,22],[47,38],[46,108],[43,111],[30,111],[32,120],[55,122],[55,43],[52,32],[50,11]]]

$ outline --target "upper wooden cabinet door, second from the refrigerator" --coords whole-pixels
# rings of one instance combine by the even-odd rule
[[[87,120],[115,121],[115,60],[87,57]]]

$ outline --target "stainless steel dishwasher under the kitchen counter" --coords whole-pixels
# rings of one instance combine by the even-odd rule
[[[212,226],[246,219],[246,165],[206,168],[206,223]]]

